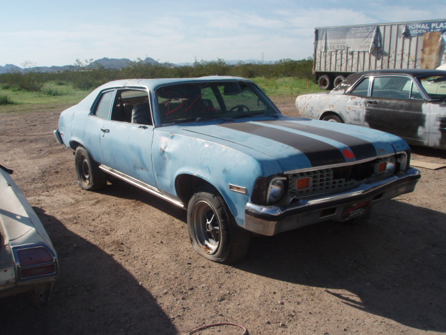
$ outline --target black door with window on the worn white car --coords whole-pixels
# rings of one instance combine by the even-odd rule
[[[399,135],[412,144],[429,139],[429,109],[411,77],[375,76],[366,98],[364,125]]]

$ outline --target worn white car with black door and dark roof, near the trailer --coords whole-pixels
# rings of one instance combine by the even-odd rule
[[[302,117],[344,122],[446,149],[446,71],[375,70],[354,73],[330,92],[298,96]]]

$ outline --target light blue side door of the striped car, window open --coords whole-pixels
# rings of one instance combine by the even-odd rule
[[[145,123],[137,123],[139,107],[146,108]],[[141,113],[139,113],[141,116]],[[141,89],[118,89],[111,117],[101,128],[100,147],[104,164],[125,177],[156,187],[151,147],[153,122],[148,93]]]

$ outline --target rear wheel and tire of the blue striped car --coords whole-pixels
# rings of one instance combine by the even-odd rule
[[[77,184],[87,191],[98,190],[107,184],[107,175],[102,172],[89,151],[77,147],[75,153]]]

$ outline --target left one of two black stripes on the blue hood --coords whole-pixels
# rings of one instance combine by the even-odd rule
[[[344,155],[341,154],[341,151],[339,151],[337,147],[320,140],[314,140],[313,138],[307,136],[296,135],[289,133],[288,131],[282,131],[281,129],[260,126],[259,124],[251,124],[248,122],[220,124],[219,126],[230,128],[235,131],[243,131],[243,133],[266,137],[270,140],[298,149],[307,156],[309,161],[312,163],[312,166],[346,162]]]

